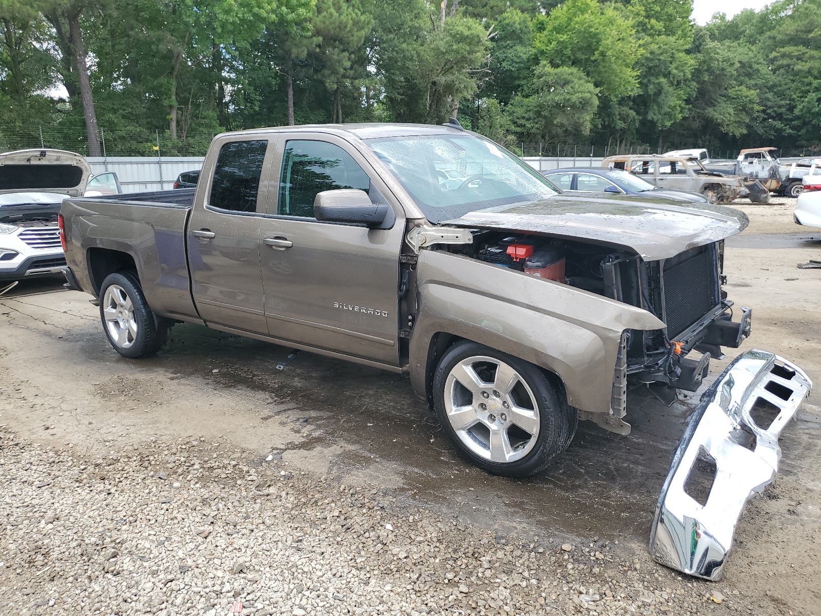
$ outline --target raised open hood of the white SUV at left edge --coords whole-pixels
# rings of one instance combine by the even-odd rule
[[[89,163],[62,149],[21,149],[0,154],[0,195],[50,192],[80,196],[89,181]]]

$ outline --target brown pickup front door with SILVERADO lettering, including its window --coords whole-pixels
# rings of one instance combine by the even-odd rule
[[[321,133],[283,134],[260,246],[265,316],[274,338],[399,363],[399,252],[404,212],[353,146]],[[314,218],[321,191],[357,188],[391,206],[392,228]]]

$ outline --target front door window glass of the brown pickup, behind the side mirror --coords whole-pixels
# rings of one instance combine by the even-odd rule
[[[287,141],[277,214],[314,218],[316,194],[339,188],[369,192],[370,179],[350,154],[325,141]]]

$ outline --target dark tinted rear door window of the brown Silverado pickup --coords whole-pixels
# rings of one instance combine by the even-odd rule
[[[234,141],[219,149],[213,170],[211,204],[235,212],[255,212],[259,176],[265,159],[267,140]]]

